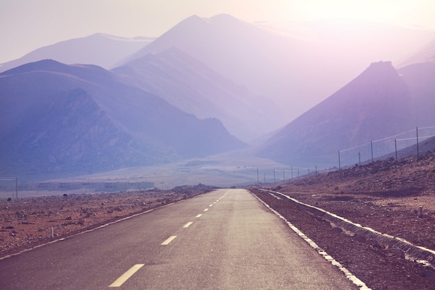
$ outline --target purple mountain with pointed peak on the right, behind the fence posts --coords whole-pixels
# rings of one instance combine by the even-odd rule
[[[434,125],[434,64],[419,66],[400,70],[401,76],[391,62],[372,63],[258,147],[258,156],[294,166],[337,165],[338,150],[368,144],[361,158],[370,159],[370,151],[366,152],[370,140],[393,136],[420,124]],[[429,72],[432,74],[420,79]],[[376,150],[377,154],[393,151],[394,140],[388,146],[377,145]],[[359,152],[352,154],[357,156]]]

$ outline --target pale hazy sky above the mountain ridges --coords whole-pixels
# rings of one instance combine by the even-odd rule
[[[346,17],[435,29],[434,0],[0,0],[0,63],[93,33],[158,36],[190,15],[248,22]]]

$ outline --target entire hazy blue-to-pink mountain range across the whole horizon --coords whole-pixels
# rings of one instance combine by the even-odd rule
[[[3,64],[15,67],[0,74],[0,174],[154,166],[254,138],[264,140],[249,149],[256,158],[337,165],[338,150],[435,125],[434,42],[416,49],[434,36],[194,15],[156,39],[96,34],[44,47]]]

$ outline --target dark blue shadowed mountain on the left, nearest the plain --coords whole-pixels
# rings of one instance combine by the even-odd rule
[[[95,65],[46,60],[0,74],[0,172],[74,175],[206,156],[245,145]]]

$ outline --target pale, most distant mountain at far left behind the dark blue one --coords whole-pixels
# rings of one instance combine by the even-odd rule
[[[96,33],[85,38],[74,38],[35,49],[15,61],[1,63],[0,72],[44,59],[53,59],[67,64],[90,63],[109,68],[153,40],[154,38],[121,38]]]

